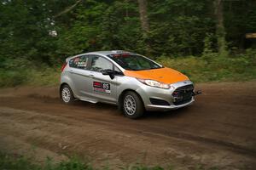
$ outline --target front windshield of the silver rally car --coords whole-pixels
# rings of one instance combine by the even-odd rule
[[[109,58],[128,71],[159,69],[160,65],[137,54],[111,54]]]

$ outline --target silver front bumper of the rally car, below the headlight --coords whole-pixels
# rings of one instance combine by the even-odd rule
[[[142,84],[142,86],[137,90],[137,93],[143,98],[143,102],[145,105],[145,109],[147,111],[168,111],[175,110],[187,105],[191,105],[195,99],[192,96],[191,99],[182,103],[181,105],[175,105],[175,97],[172,96],[172,93],[177,89],[188,85],[193,85],[193,82],[187,80],[183,82],[176,82],[170,84],[171,88],[163,89],[163,88],[153,88],[147,85]],[[154,105],[152,104],[152,100],[150,99],[159,99],[166,101],[168,105]]]

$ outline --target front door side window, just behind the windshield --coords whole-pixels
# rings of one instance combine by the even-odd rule
[[[102,70],[113,70],[113,64],[108,60],[100,56],[92,56],[90,70],[91,71],[102,71]]]

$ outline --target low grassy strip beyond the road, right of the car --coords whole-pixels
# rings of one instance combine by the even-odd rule
[[[194,82],[256,79],[256,53],[252,49],[248,49],[246,54],[226,58],[218,57],[217,53],[206,53],[202,57],[161,57],[158,61],[183,72]]]

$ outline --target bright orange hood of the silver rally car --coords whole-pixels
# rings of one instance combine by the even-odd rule
[[[179,71],[175,71],[170,68],[160,68],[146,71],[125,71],[124,73],[127,77],[150,79],[158,82],[164,82],[166,84],[189,80],[188,77]]]

